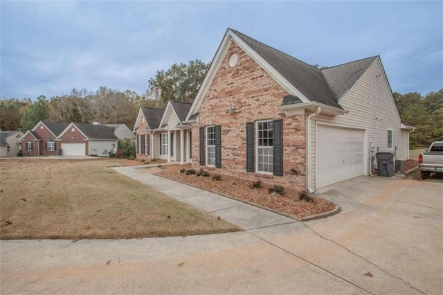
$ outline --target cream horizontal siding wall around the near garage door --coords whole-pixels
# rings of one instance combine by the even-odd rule
[[[388,150],[388,129],[392,129],[392,146],[397,145],[398,147],[397,159],[406,160],[407,158],[408,147],[405,146],[404,132],[400,129],[400,117],[379,59],[372,63],[339,103],[343,109],[348,111],[347,114],[335,117],[320,115],[312,118],[311,186],[313,188],[316,187],[317,122],[366,129],[366,142],[368,144],[366,161],[368,162],[370,159],[370,143],[373,143],[376,151],[379,147],[380,152],[395,152],[395,149]],[[368,174],[369,163],[366,167],[365,174]]]

